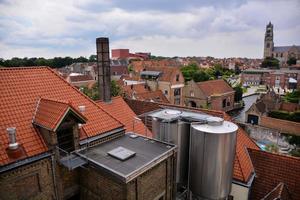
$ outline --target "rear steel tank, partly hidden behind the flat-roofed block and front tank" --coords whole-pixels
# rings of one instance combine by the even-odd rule
[[[176,183],[187,186],[190,124],[167,120],[169,116],[152,119],[152,133],[155,139],[177,145]]]

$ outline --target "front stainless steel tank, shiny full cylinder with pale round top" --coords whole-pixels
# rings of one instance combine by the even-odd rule
[[[192,123],[189,186],[203,199],[225,199],[230,194],[237,125],[211,117]]]

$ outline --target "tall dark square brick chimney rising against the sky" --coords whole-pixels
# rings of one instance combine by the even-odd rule
[[[100,37],[96,39],[99,99],[111,101],[109,40]]]

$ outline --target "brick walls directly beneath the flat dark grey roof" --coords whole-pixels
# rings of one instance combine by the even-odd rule
[[[173,199],[174,163],[169,157],[127,184],[91,166],[81,169],[81,199]]]

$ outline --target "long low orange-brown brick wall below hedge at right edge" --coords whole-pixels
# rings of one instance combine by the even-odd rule
[[[300,136],[300,123],[261,116],[260,125]]]

